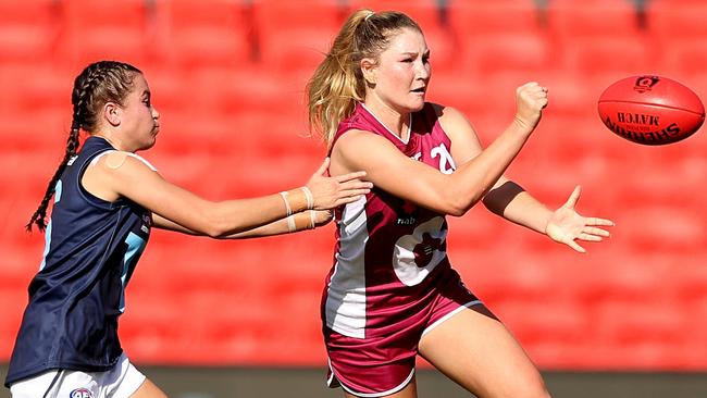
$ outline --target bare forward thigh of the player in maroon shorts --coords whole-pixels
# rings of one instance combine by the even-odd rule
[[[484,306],[464,308],[426,333],[420,355],[479,397],[547,397],[516,338]]]

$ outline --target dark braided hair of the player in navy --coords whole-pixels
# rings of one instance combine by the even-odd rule
[[[54,195],[57,182],[64,172],[64,169],[66,169],[66,164],[78,151],[79,132],[83,129],[88,134],[95,133],[99,127],[103,105],[108,102],[115,102],[122,105],[133,89],[133,79],[137,74],[141,74],[140,70],[127,63],[99,61],[89,64],[76,76],[71,94],[74,114],[64,158],[51,177],[37,211],[35,211],[32,219],[29,219],[29,223],[26,225],[28,232],[32,231],[34,224],[37,225],[39,231],[45,231],[49,200]]]

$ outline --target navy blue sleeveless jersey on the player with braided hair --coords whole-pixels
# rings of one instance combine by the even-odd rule
[[[117,318],[151,215],[129,200],[108,202],[82,187],[91,160],[113,149],[89,137],[57,183],[45,254],[29,284],[7,386],[50,369],[106,371],[123,352]]]

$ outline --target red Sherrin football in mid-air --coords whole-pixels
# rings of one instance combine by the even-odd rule
[[[619,137],[643,145],[677,142],[705,121],[699,97],[682,84],[660,76],[622,78],[599,97],[599,116]]]

